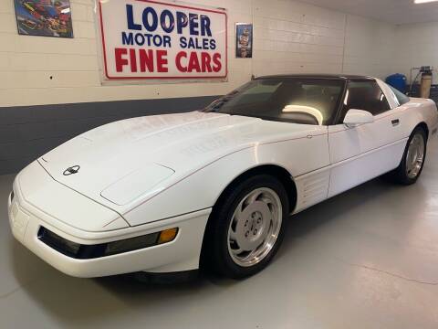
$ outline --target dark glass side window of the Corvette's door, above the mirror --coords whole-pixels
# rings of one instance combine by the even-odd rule
[[[390,110],[385,94],[376,81],[349,81],[341,121],[350,109],[369,111],[372,115]]]

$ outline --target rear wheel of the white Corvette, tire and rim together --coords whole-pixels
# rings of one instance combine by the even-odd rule
[[[396,183],[402,185],[414,184],[420,175],[426,160],[427,150],[427,133],[422,127],[417,127],[409,137],[408,143],[404,149],[401,163],[392,172],[392,177]],[[412,163],[415,160],[415,165]]]

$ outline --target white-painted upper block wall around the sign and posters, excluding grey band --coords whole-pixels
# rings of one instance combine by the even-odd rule
[[[252,74],[391,72],[389,24],[288,0],[191,0],[228,9],[228,82],[101,86],[94,0],[70,1],[73,39],[18,36],[13,0],[0,1],[0,107],[217,95]],[[235,22],[251,21],[254,58],[236,59]]]

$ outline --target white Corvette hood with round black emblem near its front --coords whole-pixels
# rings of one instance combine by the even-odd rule
[[[103,125],[38,161],[59,183],[123,213],[226,154],[314,129],[200,111],[155,115]]]

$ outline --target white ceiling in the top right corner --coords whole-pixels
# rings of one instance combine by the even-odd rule
[[[392,24],[438,21],[438,2],[416,5],[413,0],[301,0],[329,9],[376,18]]]

